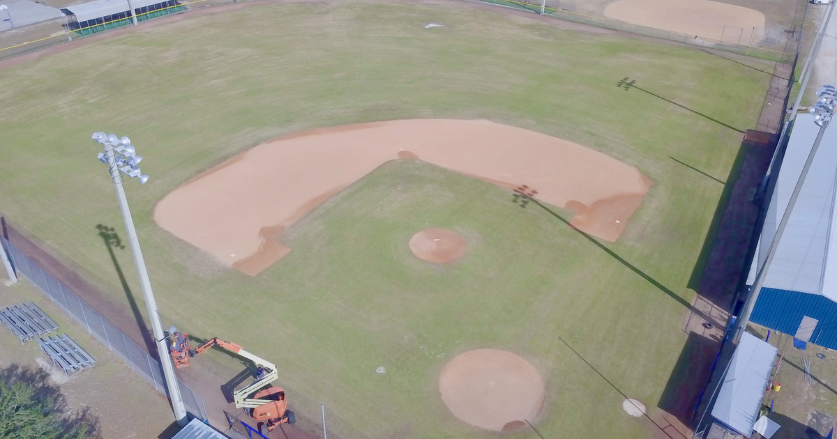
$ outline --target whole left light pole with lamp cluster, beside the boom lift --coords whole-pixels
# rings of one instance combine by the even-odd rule
[[[157,314],[157,302],[154,300],[154,293],[151,291],[151,280],[148,278],[145,259],[142,258],[140,242],[136,237],[136,228],[131,219],[131,211],[128,209],[128,200],[125,197],[125,190],[122,188],[122,176],[120,172],[130,177],[139,177],[140,183],[148,181],[148,176],[141,175],[140,167],[136,166],[142,160],[136,155],[136,150],[127,137],[119,139],[116,135],[105,135],[95,133],[93,140],[99,142],[105,152],[99,153],[99,161],[105,163],[110,171],[110,178],[113,179],[113,186],[116,188],[116,199],[119,200],[119,207],[122,211],[122,219],[125,220],[125,228],[128,232],[128,242],[131,244],[131,253],[136,264],[136,273],[140,276],[142,295],[146,300],[148,317],[151,319],[151,329],[154,340],[157,342],[157,354],[160,355],[163,375],[166,377],[168,396],[172,401],[174,418],[180,426],[185,426],[189,421],[186,417],[186,409],[183,406],[183,399],[180,396],[180,387],[177,384],[177,376],[174,375],[172,358],[168,354],[166,337],[160,325],[160,315]]]

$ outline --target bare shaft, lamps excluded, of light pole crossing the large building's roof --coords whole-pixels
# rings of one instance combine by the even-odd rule
[[[776,227],[776,234],[773,235],[773,242],[770,242],[770,247],[768,247],[768,257],[764,260],[762,267],[758,269],[756,280],[752,283],[752,288],[750,288],[750,294],[747,295],[747,301],[744,303],[742,313],[736,320],[736,329],[733,333],[733,341],[735,342],[738,342],[738,340],[741,339],[744,329],[747,329],[747,323],[750,321],[752,309],[756,306],[758,294],[761,293],[762,286],[764,285],[764,279],[768,276],[768,268],[770,268],[770,263],[773,263],[773,257],[776,256],[776,249],[779,246],[779,240],[782,239],[782,234],[785,227],[788,225],[790,214],[793,212],[793,206],[796,205],[796,200],[799,197],[799,192],[802,191],[802,185],[805,182],[805,177],[808,176],[811,163],[814,162],[814,156],[817,154],[817,150],[819,149],[819,142],[823,140],[825,129],[828,128],[828,126],[829,121],[825,120],[823,125],[819,127],[817,139],[814,140],[814,145],[811,147],[808,160],[805,161],[805,166],[803,166],[802,172],[799,174],[799,180],[796,181],[796,186],[793,187],[793,193],[790,196],[790,200],[788,200],[788,207],[785,207],[785,211],[782,214],[782,220],[779,221],[778,227]],[[766,242],[761,242],[761,245],[765,244]],[[756,260],[758,260],[758,255],[756,255]],[[756,265],[758,265],[758,262],[756,262]]]

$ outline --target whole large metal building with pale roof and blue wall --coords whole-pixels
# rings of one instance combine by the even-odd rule
[[[801,114],[793,125],[762,236],[747,277],[767,258],[772,242],[819,126]],[[808,177],[779,242],[751,321],[796,339],[837,349],[837,131],[826,130]]]

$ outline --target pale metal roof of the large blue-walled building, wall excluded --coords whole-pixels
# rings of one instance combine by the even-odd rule
[[[756,261],[762,264],[767,258],[766,243],[773,240],[818,131],[812,115],[797,116],[765,217],[757,258],[747,277],[749,285],[756,277]],[[837,221],[833,215],[835,177],[837,131],[826,130],[779,242],[764,288],[823,294],[837,300],[837,237],[834,236],[837,233],[829,232],[837,229],[837,223],[832,227]]]

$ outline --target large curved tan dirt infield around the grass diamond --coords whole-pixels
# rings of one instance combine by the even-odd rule
[[[385,161],[418,157],[577,213],[615,241],[651,186],[636,168],[567,140],[487,120],[393,120],[289,135],[203,172],[157,205],[157,223],[254,275],[290,250],[283,227]]]

